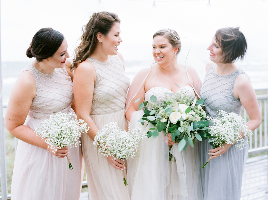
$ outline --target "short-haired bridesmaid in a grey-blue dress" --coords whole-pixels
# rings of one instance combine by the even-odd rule
[[[200,91],[207,116],[214,118],[219,109],[240,115],[243,106],[250,119],[246,125],[254,131],[261,124],[256,94],[249,77],[234,64],[238,58],[243,60],[246,53],[245,36],[239,28],[221,28],[213,36],[208,50],[212,62],[206,66],[207,74]],[[244,150],[238,150],[235,144],[213,149],[208,142],[201,142],[202,164],[212,159],[201,170],[205,200],[240,199],[247,154],[248,145]]]

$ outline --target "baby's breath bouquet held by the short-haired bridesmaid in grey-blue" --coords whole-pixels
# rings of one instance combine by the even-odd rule
[[[234,112],[227,113],[223,110],[217,112],[216,118],[208,117],[208,120],[213,124],[209,126],[209,133],[213,139],[208,142],[214,149],[224,147],[224,144],[232,145],[234,142],[236,142],[237,149],[244,149],[248,141],[242,138],[241,133],[244,136],[249,136],[252,135],[253,132],[244,125],[243,118]],[[202,168],[204,168],[209,161],[210,159],[208,159]]]

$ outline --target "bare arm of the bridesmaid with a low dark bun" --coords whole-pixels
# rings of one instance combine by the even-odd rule
[[[14,137],[47,150],[48,146],[44,140],[37,137],[34,130],[24,125],[35,94],[35,78],[29,71],[22,72],[10,94],[5,115],[5,126]],[[68,147],[52,154],[64,158],[68,154]]]

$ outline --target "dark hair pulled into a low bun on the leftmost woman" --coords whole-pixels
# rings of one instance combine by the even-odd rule
[[[32,38],[30,47],[26,51],[29,58],[35,57],[38,62],[54,55],[59,49],[64,36],[52,28],[41,28]]]

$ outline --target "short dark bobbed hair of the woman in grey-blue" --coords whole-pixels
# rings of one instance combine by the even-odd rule
[[[239,28],[221,28],[216,31],[215,39],[222,49],[222,63],[231,63],[244,59],[247,51],[247,40]]]

